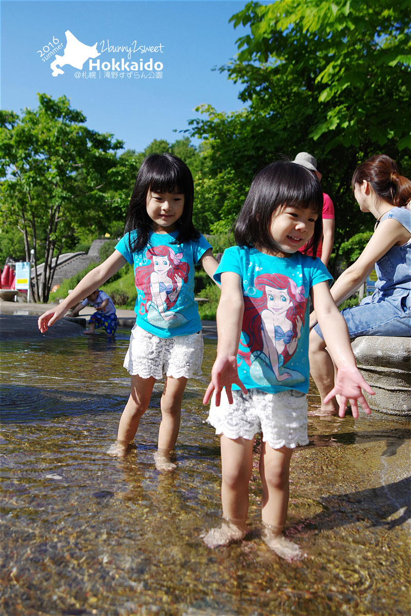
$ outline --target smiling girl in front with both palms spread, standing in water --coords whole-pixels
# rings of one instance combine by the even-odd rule
[[[307,445],[309,294],[338,367],[328,397],[341,395],[358,416],[370,409],[361,387],[348,331],[317,257],[299,253],[321,236],[322,190],[302,166],[272,163],[254,178],[235,225],[237,246],[224,252],[214,280],[221,282],[217,357],[203,402],[221,435],[221,527],[205,535],[210,548],[246,535],[253,444],[261,433],[262,538],[288,561],[304,554],[282,535],[287,519],[293,449]],[[225,388],[225,391],[223,391]],[[213,394],[214,392],[214,394]]]

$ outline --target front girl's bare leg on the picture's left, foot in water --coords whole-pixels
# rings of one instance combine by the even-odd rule
[[[204,541],[209,548],[229,545],[246,535],[248,483],[253,470],[253,440],[221,437],[221,502],[224,521]]]

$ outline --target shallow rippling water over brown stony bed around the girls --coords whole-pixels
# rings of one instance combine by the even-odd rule
[[[409,423],[310,416],[310,444],[291,460],[287,529],[306,559],[282,561],[259,538],[257,455],[250,533],[211,551],[201,533],[221,518],[219,439],[201,398],[216,341],[187,385],[177,469],[161,474],[161,383],[137,449],[105,453],[129,394],[128,339],[2,343],[0,614],[410,614]]]

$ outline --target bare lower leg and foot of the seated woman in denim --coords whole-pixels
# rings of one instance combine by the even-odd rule
[[[320,413],[338,415],[338,402],[335,397],[327,404],[324,398],[334,387],[334,364],[325,347],[325,342],[315,330],[311,330],[309,344],[310,372],[321,398]]]

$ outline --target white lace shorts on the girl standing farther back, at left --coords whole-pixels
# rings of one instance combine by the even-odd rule
[[[143,379],[150,376],[162,379],[164,375],[189,379],[194,374],[201,375],[203,351],[201,331],[189,336],[158,338],[136,324],[131,330],[123,366],[131,375],[139,375]]]

